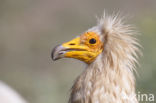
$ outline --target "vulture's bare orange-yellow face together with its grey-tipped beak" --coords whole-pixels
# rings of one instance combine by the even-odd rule
[[[103,51],[103,42],[95,32],[86,32],[79,37],[56,46],[52,51],[52,59],[75,58],[86,62],[87,64]]]

